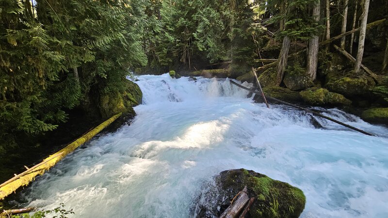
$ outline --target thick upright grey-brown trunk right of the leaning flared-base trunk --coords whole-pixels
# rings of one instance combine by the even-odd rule
[[[317,22],[319,21],[320,11],[321,2],[316,2],[313,8],[312,16]],[[315,80],[317,78],[318,50],[319,36],[314,35],[313,38],[308,41],[307,51],[307,75],[309,75],[312,80]]]

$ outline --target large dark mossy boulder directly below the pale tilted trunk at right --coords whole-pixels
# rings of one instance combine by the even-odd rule
[[[366,75],[352,75],[349,73],[346,77],[339,78],[334,82],[326,84],[328,90],[340,93],[345,96],[365,95],[371,93],[371,89],[375,86],[373,78]]]

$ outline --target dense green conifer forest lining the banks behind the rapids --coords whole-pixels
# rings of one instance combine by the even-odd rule
[[[118,112],[110,102],[140,103],[130,72],[226,68],[243,81],[253,66],[292,91],[339,72],[330,91],[372,107],[337,82],[366,81],[384,105],[387,16],[387,0],[0,0],[0,156],[39,146],[72,114],[99,121]]]

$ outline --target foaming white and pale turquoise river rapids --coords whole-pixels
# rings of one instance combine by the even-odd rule
[[[324,114],[255,104],[228,79],[140,76],[131,125],[67,156],[22,194],[82,218],[187,218],[203,184],[245,168],[301,188],[303,218],[388,217],[388,131],[338,109]],[[248,85],[248,84],[244,84]]]

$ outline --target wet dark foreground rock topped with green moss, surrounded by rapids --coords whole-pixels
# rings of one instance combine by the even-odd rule
[[[246,218],[298,218],[305,208],[302,190],[255,171],[223,171],[215,181],[217,190],[208,191],[202,196],[206,202],[197,203],[196,218],[219,217],[245,186],[248,196],[256,198]]]

